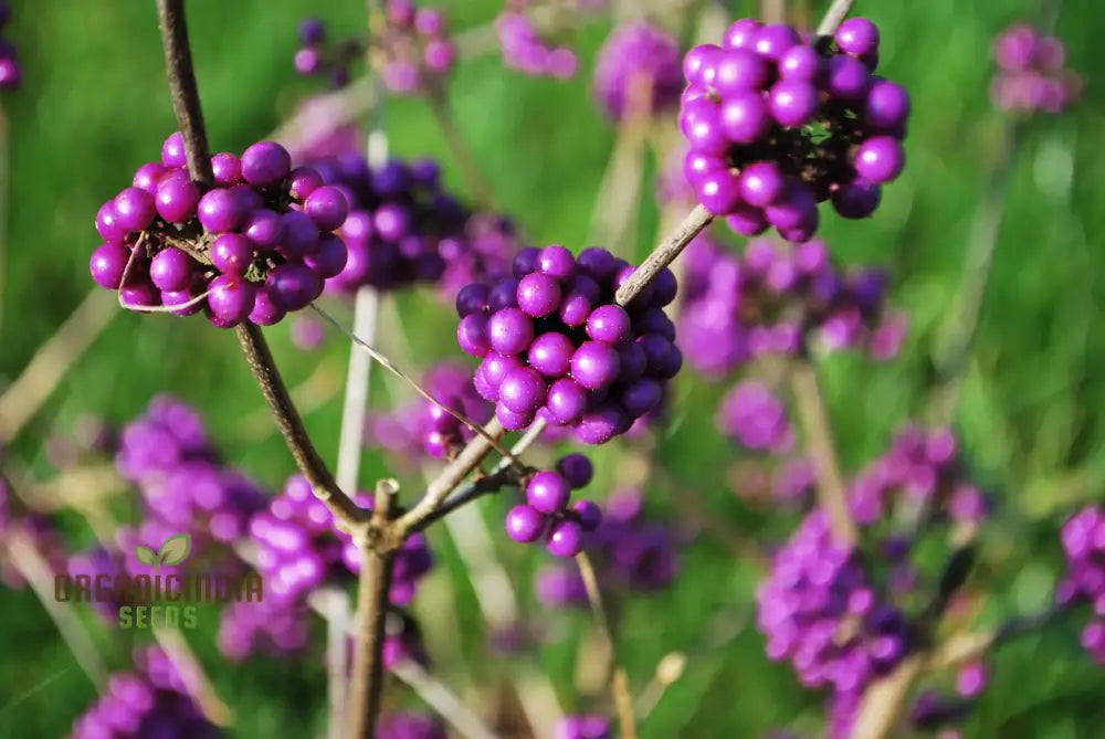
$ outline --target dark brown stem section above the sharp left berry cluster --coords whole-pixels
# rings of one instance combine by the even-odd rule
[[[200,107],[200,93],[192,67],[192,49],[188,43],[185,0],[157,0],[157,20],[161,27],[161,47],[165,50],[165,67],[169,73],[172,110],[177,114],[177,125],[185,137],[188,171],[197,182],[210,186],[214,176],[211,172],[203,109]]]

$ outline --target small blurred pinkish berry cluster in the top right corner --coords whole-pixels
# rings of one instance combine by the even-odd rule
[[[998,71],[990,97],[1002,110],[1062,113],[1082,94],[1082,78],[1066,68],[1066,47],[1053,35],[1017,23],[993,42]]]

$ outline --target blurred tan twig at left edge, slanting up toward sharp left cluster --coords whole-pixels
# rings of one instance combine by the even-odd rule
[[[81,300],[0,395],[0,440],[10,442],[27,425],[117,314],[115,296],[99,287]]]

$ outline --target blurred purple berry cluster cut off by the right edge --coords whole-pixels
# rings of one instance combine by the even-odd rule
[[[1094,615],[1082,630],[1082,646],[1105,665],[1105,511],[1098,505],[1086,506],[1066,524],[1061,535],[1067,572],[1059,583],[1055,600],[1061,606],[1090,603]]]

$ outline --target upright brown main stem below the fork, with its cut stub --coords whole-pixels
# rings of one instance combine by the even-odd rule
[[[399,484],[381,479],[376,486],[372,524],[379,528],[391,525]],[[392,552],[379,553],[371,542],[358,541],[361,550],[360,584],[357,592],[357,652],[354,655],[352,679],[349,684],[349,737],[372,739],[380,716],[383,688],[383,627],[388,616],[388,591],[394,569]]]

